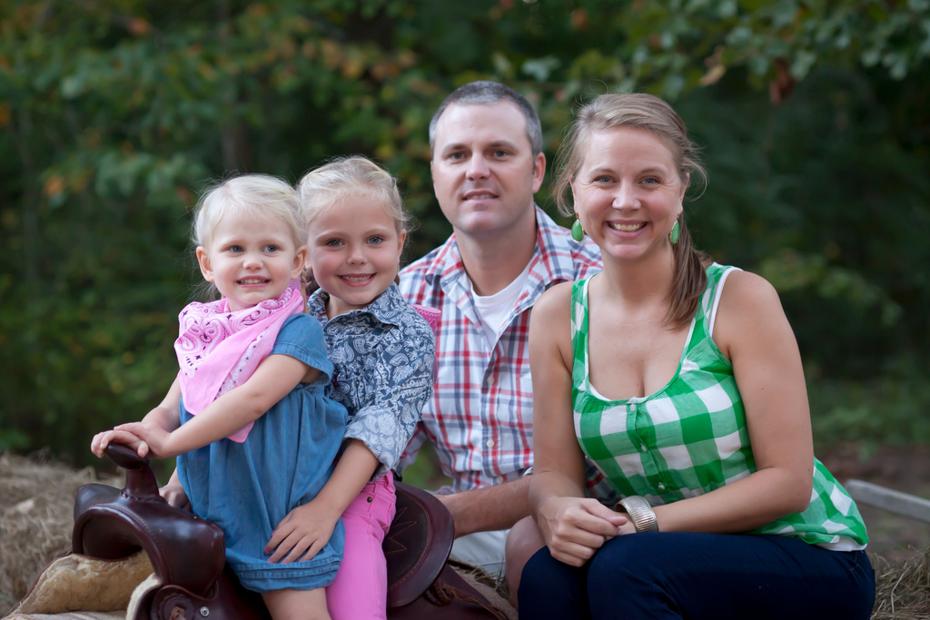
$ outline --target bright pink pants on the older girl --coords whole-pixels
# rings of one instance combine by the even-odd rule
[[[326,587],[326,606],[333,620],[387,617],[387,564],[381,543],[394,518],[394,477],[389,471],[368,482],[342,513],[345,551],[336,581]]]

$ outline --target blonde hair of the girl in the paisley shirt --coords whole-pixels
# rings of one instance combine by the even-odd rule
[[[362,155],[339,157],[311,170],[300,179],[297,193],[307,226],[341,200],[360,196],[374,196],[394,220],[398,232],[410,224],[397,179]]]

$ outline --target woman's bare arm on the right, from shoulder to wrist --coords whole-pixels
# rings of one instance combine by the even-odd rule
[[[714,342],[733,363],[757,470],[655,508],[662,531],[746,532],[810,502],[814,450],[804,370],[777,292],[757,275],[733,272],[714,329]]]

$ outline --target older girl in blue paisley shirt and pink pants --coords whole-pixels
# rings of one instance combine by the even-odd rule
[[[335,620],[384,618],[387,573],[381,542],[394,514],[397,465],[432,395],[432,329],[395,284],[407,214],[392,176],[364,157],[336,160],[299,183],[308,222],[308,267],[319,289],[308,301],[323,324],[335,370],[327,394],[349,423],[332,478],[316,499],[276,528],[269,549],[326,540],[346,528],[339,574],[326,588]],[[286,556],[279,547],[272,559]]]

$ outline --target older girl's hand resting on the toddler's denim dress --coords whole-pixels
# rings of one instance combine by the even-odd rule
[[[317,504],[315,499],[294,508],[274,528],[271,540],[265,545],[265,553],[274,551],[268,561],[287,564],[312,560],[333,535],[336,521],[339,515],[332,514],[332,510]]]

